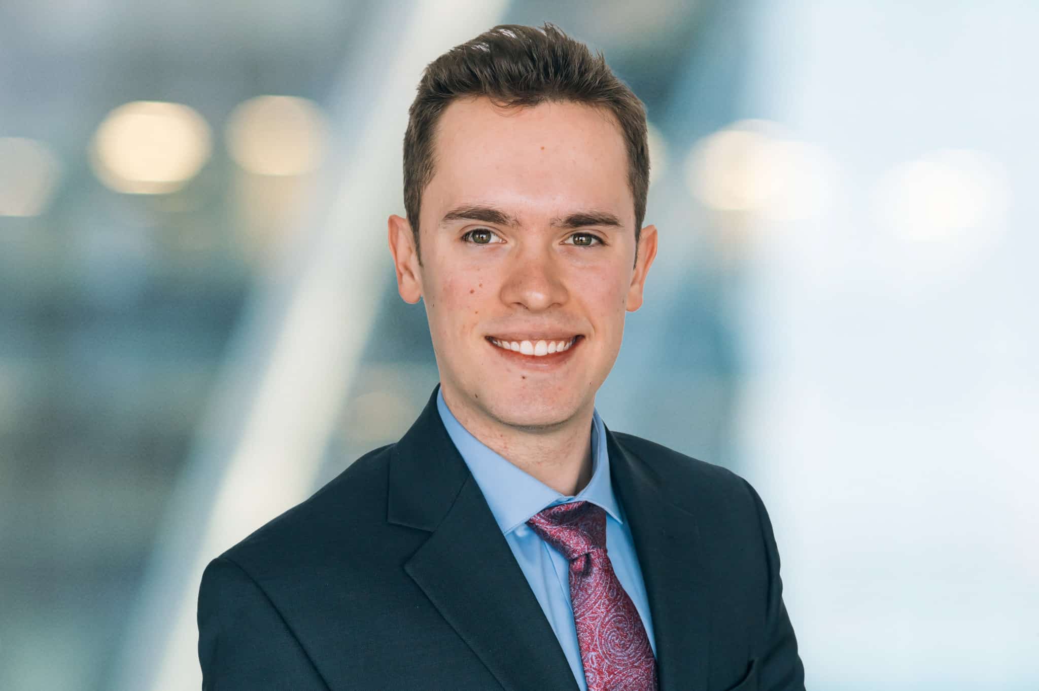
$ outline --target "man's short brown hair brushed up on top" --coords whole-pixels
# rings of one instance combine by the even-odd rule
[[[571,101],[612,112],[628,148],[638,242],[649,189],[645,107],[601,52],[592,54],[585,44],[547,23],[541,28],[496,26],[455,46],[423,72],[404,134],[404,209],[417,248],[422,193],[433,177],[436,122],[452,101],[465,96],[488,96],[507,108]]]

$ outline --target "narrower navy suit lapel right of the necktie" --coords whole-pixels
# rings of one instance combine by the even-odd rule
[[[668,500],[660,475],[607,430],[610,474],[649,598],[660,691],[704,689],[709,603],[696,517]]]

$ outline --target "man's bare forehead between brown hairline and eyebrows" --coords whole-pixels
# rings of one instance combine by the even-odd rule
[[[634,226],[624,140],[601,108],[458,100],[441,115],[433,154],[423,216],[480,202],[508,208],[521,220],[598,209]]]

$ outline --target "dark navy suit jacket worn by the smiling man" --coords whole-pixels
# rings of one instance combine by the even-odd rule
[[[607,430],[660,691],[804,688],[761,498],[731,472]],[[214,559],[203,688],[575,691],[552,628],[436,410]]]

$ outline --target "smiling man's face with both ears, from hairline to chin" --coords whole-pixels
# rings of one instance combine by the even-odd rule
[[[422,266],[404,219],[390,243],[401,297],[424,299],[452,412],[527,431],[590,415],[657,251],[647,226],[636,264],[619,127],[575,103],[467,99],[443,113],[434,151]]]

